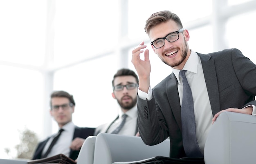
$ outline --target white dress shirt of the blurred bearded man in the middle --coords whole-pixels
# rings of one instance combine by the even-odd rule
[[[118,119],[115,120],[115,122],[113,122],[112,125],[110,125],[107,133],[111,133],[120,125],[123,114],[124,112],[120,110]],[[135,105],[135,107],[133,107],[132,109],[128,110],[125,114],[127,114],[128,117],[126,118],[124,127],[122,127],[118,134],[126,136],[135,136],[135,131],[137,129],[137,105]]]

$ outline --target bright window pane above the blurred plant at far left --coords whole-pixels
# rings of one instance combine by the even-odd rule
[[[20,131],[31,129],[42,135],[43,123],[43,77],[38,71],[0,65],[0,156],[16,156],[14,147],[19,144]],[[9,156],[4,152],[10,149]]]

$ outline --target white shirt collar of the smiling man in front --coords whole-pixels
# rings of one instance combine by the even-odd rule
[[[179,73],[181,70],[177,70],[175,68],[172,68],[173,73],[178,81],[178,83],[180,83],[180,79],[179,79]],[[196,52],[194,52],[193,50],[191,50],[189,59],[186,61],[183,70],[187,70],[189,72],[193,72],[193,73],[197,73],[198,72],[198,54]]]

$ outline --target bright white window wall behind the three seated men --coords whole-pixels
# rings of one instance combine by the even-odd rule
[[[180,16],[195,52],[238,48],[256,63],[256,0],[0,0],[0,158],[15,156],[23,129],[39,140],[57,131],[49,114],[54,90],[74,96],[78,126],[114,119],[112,77],[119,68],[135,70],[131,51],[142,41],[151,86],[171,74],[144,31],[146,19],[162,10]]]

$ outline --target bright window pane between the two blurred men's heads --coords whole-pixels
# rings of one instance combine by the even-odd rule
[[[117,101],[112,98],[112,78],[117,67],[114,54],[56,71],[54,90],[73,94],[76,103],[73,121],[81,127],[97,127],[117,116]],[[53,132],[57,131],[53,122]]]

